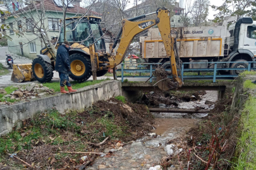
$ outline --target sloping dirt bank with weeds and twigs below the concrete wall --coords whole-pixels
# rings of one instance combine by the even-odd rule
[[[95,157],[109,156],[99,154],[104,149],[120,150],[149,132],[153,121],[147,106],[114,98],[82,113],[39,113],[23,121],[20,130],[1,137],[0,169],[84,169]]]

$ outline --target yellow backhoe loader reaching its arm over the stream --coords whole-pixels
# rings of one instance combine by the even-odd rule
[[[151,14],[156,14],[154,20],[136,21]],[[70,66],[71,79],[79,82],[86,81],[92,74],[100,77],[107,73],[108,69],[113,69],[116,65],[123,62],[123,59],[128,50],[131,41],[138,33],[147,30],[148,28],[157,25],[161,33],[166,54],[169,56],[171,63],[171,74],[178,86],[183,83],[178,77],[176,60],[178,56],[174,54],[174,38],[171,37],[171,25],[169,10],[159,8],[155,13],[143,14],[128,20],[124,19],[122,28],[120,29],[111,50],[111,53],[106,52],[104,38],[102,38],[101,18],[96,16],[86,16],[82,20],[75,21],[75,18],[67,18],[66,23],[71,23],[66,26],[66,40],[70,42],[72,50],[70,50]],[[59,42],[64,41],[63,28],[59,35]],[[90,37],[88,38],[88,35]],[[119,42],[119,47],[114,53],[113,49]],[[89,46],[90,45],[90,46]],[[13,65],[13,75],[11,81],[23,82],[36,79],[39,82],[49,82],[53,77],[55,59],[45,47],[40,50],[40,55],[33,60],[32,64]],[[162,81],[164,82],[164,81]]]

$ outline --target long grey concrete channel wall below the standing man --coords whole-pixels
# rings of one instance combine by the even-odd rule
[[[35,113],[56,108],[60,113],[83,111],[99,100],[122,95],[120,81],[103,81],[86,86],[72,94],[56,94],[46,98],[0,107],[0,136],[6,135],[13,127],[22,125],[22,120],[32,118]]]

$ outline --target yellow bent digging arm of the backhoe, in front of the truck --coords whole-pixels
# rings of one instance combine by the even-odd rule
[[[116,47],[118,40],[120,39],[118,50],[116,50],[116,55],[111,55],[109,57],[109,67],[114,68],[116,65],[120,64],[130,46],[131,41],[138,33],[149,29],[150,27],[157,25],[159,31],[161,33],[162,42],[164,43],[164,47],[166,49],[166,54],[171,62],[171,74],[175,82],[178,82],[178,86],[181,86],[183,82],[178,77],[177,67],[176,67],[176,57],[174,55],[174,38],[171,37],[171,24],[170,24],[170,16],[169,10],[166,8],[159,8],[156,11],[157,18],[155,20],[145,20],[145,21],[137,21],[141,18],[145,18],[145,16],[149,14],[145,14],[142,16],[137,16],[135,18],[131,18],[129,20],[123,20],[122,29],[119,31],[118,36],[113,44],[113,49]],[[151,13],[154,14],[154,13]]]

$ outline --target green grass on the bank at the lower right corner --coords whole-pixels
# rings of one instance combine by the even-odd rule
[[[238,139],[236,150],[240,152],[235,169],[256,169],[256,98],[252,96],[245,103],[241,114],[243,131]]]

